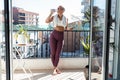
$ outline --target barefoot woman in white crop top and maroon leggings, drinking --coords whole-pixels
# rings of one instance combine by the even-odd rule
[[[52,16],[55,11],[51,10],[51,13],[46,19],[46,23],[53,22],[54,27],[54,30],[50,35],[50,50],[51,60],[54,66],[54,75],[61,73],[58,69],[58,62],[63,45],[64,30],[67,29],[68,24],[66,17],[63,15],[64,11],[65,8],[63,6],[59,6],[57,9],[57,14]]]

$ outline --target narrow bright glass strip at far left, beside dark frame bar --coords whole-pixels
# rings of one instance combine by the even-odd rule
[[[4,0],[0,2],[0,80],[6,80]]]

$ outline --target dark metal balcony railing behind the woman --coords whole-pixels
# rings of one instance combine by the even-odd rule
[[[13,35],[16,31],[13,31]],[[50,58],[50,46],[49,37],[52,30],[29,30],[30,42],[34,46],[27,47],[27,55],[25,58]],[[99,34],[98,34],[99,33]],[[61,51],[62,58],[76,58],[76,57],[88,57],[85,53],[83,45],[80,42],[80,38],[86,40],[89,36],[89,30],[73,30],[64,32],[64,44]],[[102,36],[102,31],[97,31],[99,36]],[[95,48],[93,49],[94,56],[101,56],[102,54],[102,37],[96,41]],[[13,38],[13,44],[16,44]],[[17,47],[20,48],[20,47]],[[2,52],[4,52],[4,47],[2,47]],[[13,48],[13,52],[14,48]],[[17,55],[17,52],[15,52]]]

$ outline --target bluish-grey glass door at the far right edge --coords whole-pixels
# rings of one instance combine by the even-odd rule
[[[120,79],[120,0],[111,0],[108,79]],[[112,56],[110,56],[112,55]]]

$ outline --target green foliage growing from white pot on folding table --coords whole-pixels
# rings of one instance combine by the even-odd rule
[[[19,30],[15,33],[14,38],[17,40],[18,35],[23,35],[27,40],[30,39],[29,34],[27,33],[27,30],[22,26],[19,25]]]

